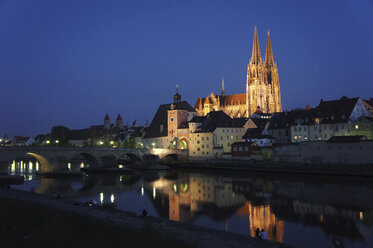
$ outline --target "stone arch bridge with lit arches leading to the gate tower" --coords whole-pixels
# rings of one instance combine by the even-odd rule
[[[147,159],[172,156],[177,160],[186,160],[188,150],[176,149],[137,149],[137,148],[102,148],[102,147],[1,147],[0,162],[7,163],[14,159],[34,157],[41,164],[42,172],[67,169],[67,161],[88,161],[91,167],[113,165],[119,159],[124,161],[144,161]]]

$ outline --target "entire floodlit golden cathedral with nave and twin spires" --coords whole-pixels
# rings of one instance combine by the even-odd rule
[[[277,65],[273,59],[269,31],[265,60],[260,55],[258,33],[255,26],[253,52],[247,68],[246,94],[225,95],[224,79],[221,95],[197,99],[194,106],[198,115],[205,116],[211,111],[224,111],[231,118],[250,117],[254,112],[281,112],[280,81]]]

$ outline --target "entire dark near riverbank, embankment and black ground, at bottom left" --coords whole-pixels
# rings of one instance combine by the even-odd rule
[[[4,247],[286,247],[270,241],[64,199],[0,189]]]

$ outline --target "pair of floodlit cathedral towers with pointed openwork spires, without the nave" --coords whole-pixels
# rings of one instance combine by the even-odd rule
[[[247,117],[250,117],[258,107],[263,113],[282,111],[280,82],[277,66],[273,59],[269,31],[267,35],[265,61],[263,61],[260,54],[258,32],[255,26],[252,56],[247,68]]]

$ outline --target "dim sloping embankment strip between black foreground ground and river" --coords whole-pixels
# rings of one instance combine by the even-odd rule
[[[70,213],[79,214],[82,217],[108,222],[113,226],[122,228],[123,231],[132,230],[142,232],[144,229],[152,230],[165,238],[177,238],[180,242],[190,244],[194,247],[287,247],[283,244],[271,241],[256,240],[234,233],[207,229],[151,216],[137,217],[135,214],[129,212],[119,210],[106,211],[88,207],[84,204],[77,206],[74,202],[65,199],[56,199],[52,196],[38,195],[30,192],[0,189],[0,198],[17,200],[20,201],[20,204],[22,202],[40,204],[61,212],[68,211]]]

